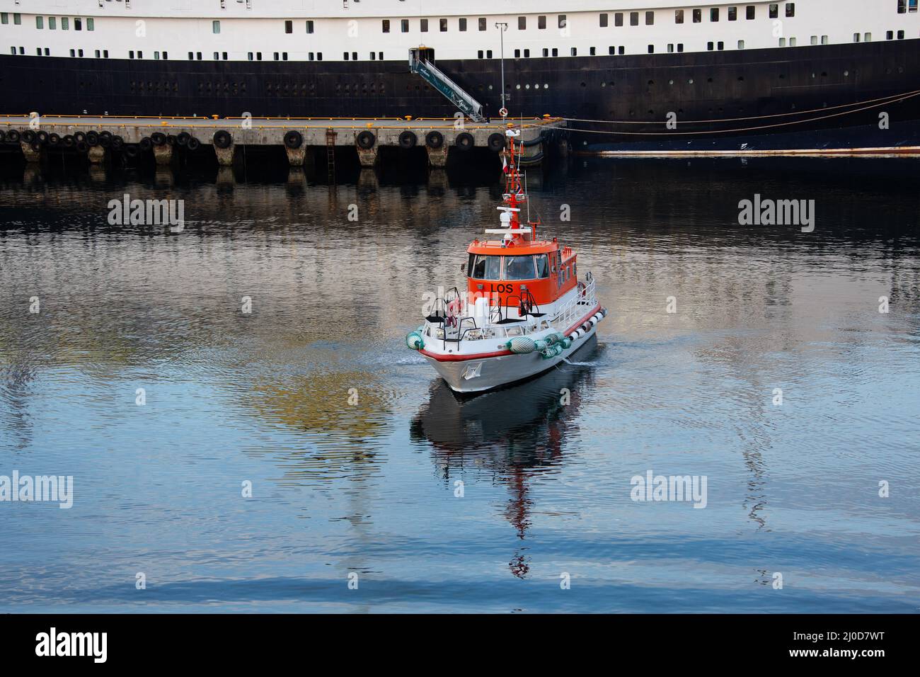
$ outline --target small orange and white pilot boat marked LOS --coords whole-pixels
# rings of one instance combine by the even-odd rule
[[[466,250],[466,290],[436,298],[406,336],[456,392],[480,392],[528,379],[571,356],[594,335],[607,310],[591,273],[580,280],[575,251],[540,239],[539,221],[521,221],[527,194],[518,171],[520,129],[505,131],[506,193],[500,228],[486,228]],[[510,161],[509,161],[510,160]]]

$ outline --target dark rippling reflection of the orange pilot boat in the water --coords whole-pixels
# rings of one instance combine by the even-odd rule
[[[590,363],[597,353],[592,336],[570,363],[474,396],[455,393],[437,379],[431,398],[412,421],[411,439],[431,443],[433,461],[448,485],[464,473],[488,473],[506,484],[511,496],[504,517],[523,541],[534,505],[529,484],[558,472],[564,442],[578,430],[584,393],[593,390]],[[522,544],[509,562],[519,578],[530,570],[526,551]]]

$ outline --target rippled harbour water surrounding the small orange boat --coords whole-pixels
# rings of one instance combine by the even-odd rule
[[[74,505],[0,502],[0,610],[914,612],[918,170],[531,172],[610,314],[458,400],[403,337],[496,221],[494,168],[7,166],[0,474],[73,475]],[[122,193],[184,199],[185,230],[109,226]],[[754,193],[815,200],[814,231],[739,226]],[[632,500],[649,471],[706,507]]]

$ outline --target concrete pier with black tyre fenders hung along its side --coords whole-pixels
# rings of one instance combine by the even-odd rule
[[[177,153],[213,153],[222,167],[233,165],[236,146],[282,146],[288,163],[302,167],[312,150],[350,147],[357,153],[363,168],[377,166],[381,147],[409,150],[424,146],[432,168],[443,168],[448,158],[463,156],[475,149],[487,148],[500,153],[506,147],[505,130],[509,125],[521,129],[522,164],[546,161],[551,146],[558,148],[565,121],[542,117],[527,120],[494,120],[473,123],[454,118],[157,118],[107,116],[54,116],[39,119],[39,126],[29,117],[0,117],[0,132],[19,133],[18,144],[29,162],[40,162],[47,152],[77,153],[91,163],[108,156],[127,158],[153,156],[156,165],[168,165]],[[32,124],[29,127],[29,123]],[[40,147],[32,147],[21,138],[31,129],[42,130]],[[55,143],[51,143],[52,138]],[[16,134],[13,134],[14,138]],[[105,138],[103,138],[105,137]],[[7,138],[8,141],[8,138]],[[210,146],[210,147],[208,147]],[[389,157],[389,156],[386,156]]]

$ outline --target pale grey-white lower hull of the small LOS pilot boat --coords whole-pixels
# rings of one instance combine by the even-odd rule
[[[428,355],[424,357],[447,381],[447,385],[453,391],[489,391],[492,388],[499,388],[518,380],[529,379],[536,374],[555,367],[559,362],[586,344],[596,331],[596,325],[592,325],[587,333],[584,333],[578,339],[574,339],[568,349],[563,350],[558,356],[549,358],[540,355],[536,351],[523,355],[500,355],[457,361],[443,361]]]

